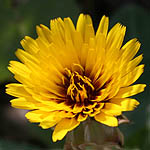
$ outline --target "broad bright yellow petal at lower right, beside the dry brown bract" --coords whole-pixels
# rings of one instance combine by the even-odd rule
[[[118,120],[115,117],[109,116],[105,113],[100,112],[99,114],[95,115],[94,118],[96,121],[102,124],[105,124],[111,127],[118,126]]]

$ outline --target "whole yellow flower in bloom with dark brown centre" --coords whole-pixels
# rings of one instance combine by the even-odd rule
[[[118,126],[116,117],[139,104],[128,97],[145,87],[132,85],[143,73],[142,55],[134,58],[140,43],[132,39],[122,46],[126,27],[118,23],[108,32],[108,23],[103,16],[95,33],[88,15],[81,14],[76,27],[70,18],[51,20],[50,29],[37,26],[37,39],[21,41],[21,62],[10,61],[8,69],[20,82],[7,85],[16,97],[12,106],[31,110],[26,118],[43,129],[55,126],[54,142],[87,117]]]

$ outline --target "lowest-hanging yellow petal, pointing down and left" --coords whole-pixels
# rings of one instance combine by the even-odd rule
[[[55,130],[52,135],[52,139],[54,142],[57,140],[61,140],[67,134],[67,132],[76,128],[80,122],[78,122],[75,118],[72,119],[62,119],[55,127]]]

